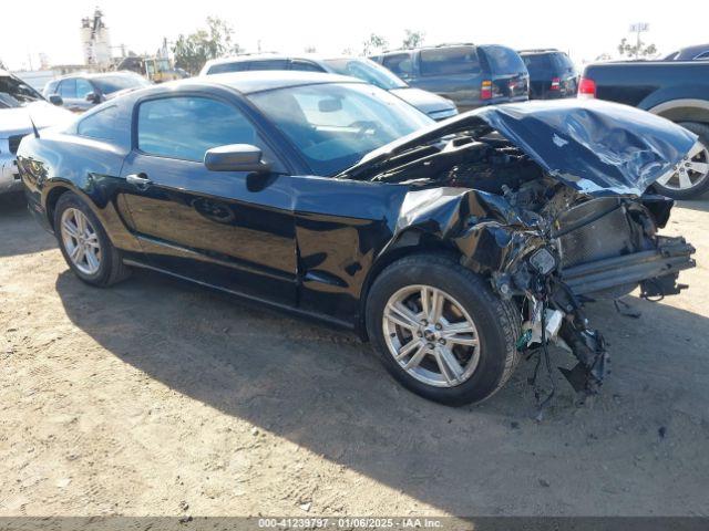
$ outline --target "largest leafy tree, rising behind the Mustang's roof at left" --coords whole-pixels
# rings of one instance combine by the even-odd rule
[[[175,66],[191,74],[197,74],[210,59],[240,51],[242,48],[234,41],[234,29],[217,17],[207,17],[206,29],[198,29],[188,35],[179,34],[173,46]]]

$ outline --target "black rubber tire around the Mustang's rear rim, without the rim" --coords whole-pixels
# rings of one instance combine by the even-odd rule
[[[79,270],[69,257],[61,233],[62,215],[68,208],[75,208],[78,210],[81,210],[81,212],[83,212],[84,216],[89,218],[89,221],[96,232],[99,244],[101,246],[101,261],[99,270],[94,274],[86,274],[85,272]],[[59,242],[59,248],[64,256],[64,260],[66,260],[66,263],[74,272],[74,274],[76,274],[76,277],[79,277],[88,284],[99,288],[106,288],[124,280],[130,275],[131,270],[123,263],[121,251],[113,247],[113,243],[111,243],[111,240],[109,239],[109,236],[106,235],[106,231],[104,230],[103,225],[101,225],[101,221],[99,220],[96,215],[93,212],[93,210],[91,210],[91,208],[84,202],[83,199],[81,199],[76,194],[72,191],[62,194],[56,201],[56,207],[54,208],[54,235],[56,236],[56,241]]]

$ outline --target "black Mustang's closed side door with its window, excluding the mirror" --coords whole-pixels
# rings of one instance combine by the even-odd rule
[[[133,229],[151,266],[247,296],[292,305],[296,246],[290,181],[234,102],[201,93],[137,103],[122,176]],[[207,149],[251,144],[269,175],[210,171]]]

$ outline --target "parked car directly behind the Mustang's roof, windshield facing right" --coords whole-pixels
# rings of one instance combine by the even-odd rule
[[[413,88],[389,70],[367,58],[316,55],[276,55],[256,54],[239,55],[227,59],[213,59],[202,69],[199,75],[223,74],[226,72],[244,72],[255,70],[298,70],[304,72],[329,72],[351,75],[389,91],[428,114],[433,119],[450,118],[458,114],[455,104],[432,92]]]

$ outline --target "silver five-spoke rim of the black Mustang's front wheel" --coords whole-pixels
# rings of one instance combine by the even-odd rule
[[[436,387],[469,379],[480,361],[475,323],[442,290],[409,285],[384,308],[382,330],[390,354],[412,377]]]

